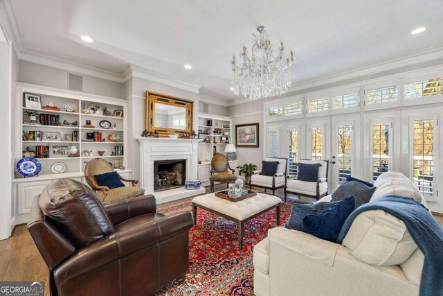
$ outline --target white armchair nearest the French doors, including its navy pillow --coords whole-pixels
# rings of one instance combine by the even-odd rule
[[[297,176],[287,176],[284,186],[284,201],[287,200],[287,193],[317,200],[327,195],[328,168],[328,160],[300,159]]]

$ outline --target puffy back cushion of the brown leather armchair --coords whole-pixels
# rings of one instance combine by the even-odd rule
[[[78,247],[114,233],[98,195],[75,180],[60,179],[48,184],[40,195],[39,207]]]

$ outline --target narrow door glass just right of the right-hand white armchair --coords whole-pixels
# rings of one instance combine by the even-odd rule
[[[338,125],[338,183],[346,181],[346,176],[351,175],[352,160],[352,125]]]

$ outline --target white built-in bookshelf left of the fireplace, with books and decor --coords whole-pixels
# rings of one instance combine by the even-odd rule
[[[57,162],[66,166],[66,175],[82,175],[84,166],[93,158],[106,159],[116,170],[125,168],[124,100],[24,83],[17,85],[19,119],[15,122],[21,124],[16,129],[15,162],[24,156],[35,157],[42,164],[40,175],[46,177],[53,174],[52,166]],[[27,104],[30,100],[34,101]],[[15,177],[21,175],[16,172]]]

